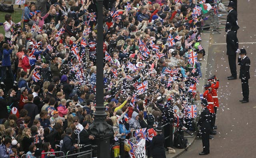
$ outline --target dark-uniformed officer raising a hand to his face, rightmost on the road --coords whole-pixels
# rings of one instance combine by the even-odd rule
[[[238,57],[238,65],[240,65],[240,73],[239,78],[241,79],[242,83],[242,92],[243,92],[243,99],[239,100],[242,103],[249,102],[249,85],[248,80],[250,79],[250,59],[246,56],[246,50],[240,49],[239,57]]]

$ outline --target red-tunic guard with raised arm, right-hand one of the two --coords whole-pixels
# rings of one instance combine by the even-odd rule
[[[219,99],[218,99],[218,95],[217,95],[217,89],[219,88],[219,80],[218,78],[214,75],[211,78],[208,79],[208,82],[211,85],[212,91],[212,99],[213,99],[213,107],[214,107],[214,116],[213,116],[213,120],[212,120],[212,126],[213,129],[217,129],[217,126],[215,126],[215,120],[216,120],[216,113],[217,113],[217,107],[219,107]]]

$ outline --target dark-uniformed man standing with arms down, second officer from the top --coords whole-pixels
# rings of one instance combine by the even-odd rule
[[[226,23],[226,29],[228,29],[226,35],[227,55],[231,71],[231,76],[228,76],[228,80],[236,80],[236,50],[238,49],[238,39],[236,37],[236,33],[231,29],[231,23]]]

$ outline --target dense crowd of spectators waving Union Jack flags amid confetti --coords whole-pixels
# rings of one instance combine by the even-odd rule
[[[97,16],[104,19],[102,88],[112,143],[137,129],[159,132],[172,119],[178,131],[196,131],[188,106],[202,77],[196,57],[205,54],[204,3],[109,0],[97,15],[96,0],[26,0],[19,23],[6,14],[0,33],[0,158],[48,158],[40,153],[66,154],[78,143],[93,143]],[[148,156],[163,154],[154,148],[163,144],[151,146]]]

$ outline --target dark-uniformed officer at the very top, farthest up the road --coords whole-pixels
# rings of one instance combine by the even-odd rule
[[[234,10],[235,8],[235,3],[234,2],[229,2],[228,3],[228,16],[227,16],[227,23],[229,22],[231,24],[231,30],[237,33],[237,30],[239,29],[238,26],[238,21],[237,21],[237,12]],[[227,32],[228,29],[225,28],[225,31]]]

